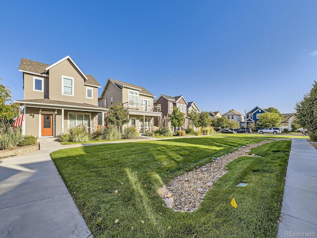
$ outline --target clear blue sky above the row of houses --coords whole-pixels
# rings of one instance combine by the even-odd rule
[[[113,78],[222,114],[292,113],[317,80],[316,9],[316,0],[2,0],[0,83],[21,100],[21,58],[69,55],[102,86]]]

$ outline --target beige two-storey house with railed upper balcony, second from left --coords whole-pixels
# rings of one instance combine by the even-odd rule
[[[135,126],[139,132],[145,133],[154,130],[154,118],[162,115],[160,108],[154,106],[154,98],[144,87],[108,78],[98,103],[100,107],[110,108],[120,102],[130,114],[130,121],[125,126]]]

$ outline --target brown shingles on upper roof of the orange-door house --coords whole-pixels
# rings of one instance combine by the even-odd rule
[[[21,59],[19,70],[21,71],[28,71],[33,73],[44,73],[45,68],[49,67],[51,64],[41,63],[34,60],[28,60],[25,58]],[[88,80],[85,81],[87,84],[91,84],[94,86],[100,86],[97,80],[89,74],[85,74]]]

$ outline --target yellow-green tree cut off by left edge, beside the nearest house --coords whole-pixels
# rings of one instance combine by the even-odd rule
[[[2,79],[0,78],[0,80]],[[19,111],[18,104],[7,104],[11,102],[11,99],[12,95],[9,87],[0,84],[0,120],[6,124],[8,124]]]

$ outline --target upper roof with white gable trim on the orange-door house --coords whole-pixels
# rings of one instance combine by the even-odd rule
[[[76,63],[69,56],[66,56],[63,59],[58,60],[57,62],[55,62],[51,65],[46,64],[46,63],[37,62],[34,60],[28,60],[28,59],[22,58],[20,65],[19,65],[19,71],[45,76],[45,75],[47,75],[47,73],[49,73],[50,68],[52,68],[53,66],[57,65],[58,63],[60,63],[64,60],[67,60],[67,59],[69,59],[74,64],[74,66],[79,70],[79,72],[82,74],[82,76],[85,79],[85,84],[101,87],[100,84],[97,82],[97,80],[92,75],[84,74],[80,70],[80,68],[78,68]]]

